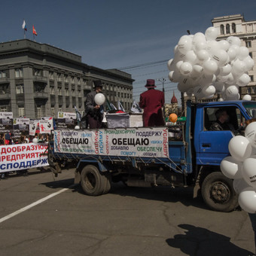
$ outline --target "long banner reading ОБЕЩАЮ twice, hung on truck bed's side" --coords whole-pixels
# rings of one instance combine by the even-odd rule
[[[169,157],[168,129],[54,130],[59,153],[120,157]]]

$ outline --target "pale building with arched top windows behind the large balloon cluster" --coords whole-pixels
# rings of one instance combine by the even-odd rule
[[[249,55],[256,63],[256,20],[245,21],[241,14],[215,17],[212,19],[212,26],[218,29],[219,35],[216,40],[224,40],[229,36],[240,38],[241,46],[248,47]],[[239,87],[240,97],[245,94],[251,95],[256,100],[256,66],[248,72],[251,78],[248,86]]]

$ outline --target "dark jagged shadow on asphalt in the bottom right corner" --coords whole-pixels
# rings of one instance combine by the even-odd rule
[[[203,227],[195,227],[190,224],[180,224],[185,234],[175,235],[174,238],[166,239],[169,246],[180,248],[182,252],[193,256],[248,256],[251,251],[239,248],[230,242],[230,237],[212,232]]]

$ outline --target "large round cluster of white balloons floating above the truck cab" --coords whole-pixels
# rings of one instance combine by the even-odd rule
[[[167,63],[169,80],[178,83],[178,90],[197,99],[221,94],[221,100],[239,99],[239,87],[250,81],[248,71],[254,60],[248,48],[235,36],[216,41],[218,30],[205,34],[183,35],[174,48],[175,56]],[[248,99],[248,96],[246,96]]]

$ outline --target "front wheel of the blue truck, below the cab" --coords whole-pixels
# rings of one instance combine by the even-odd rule
[[[222,172],[212,172],[202,184],[202,197],[209,208],[218,212],[231,212],[238,206],[238,195],[230,178]]]

